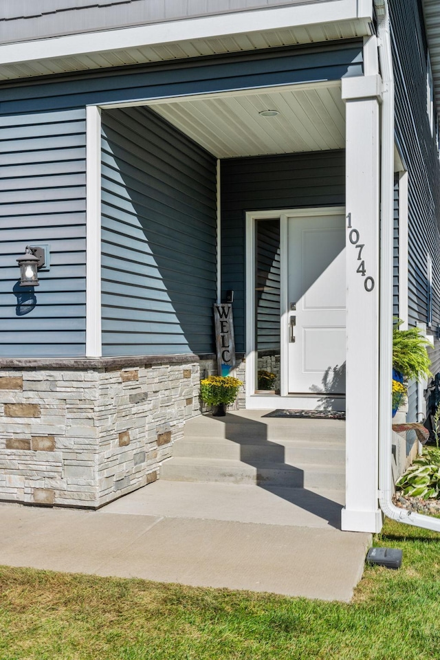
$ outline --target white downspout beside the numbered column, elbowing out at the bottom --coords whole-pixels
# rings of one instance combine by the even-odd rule
[[[391,386],[393,370],[393,197],[394,78],[388,0],[374,0],[382,73],[382,180],[380,223],[380,349],[379,349],[379,502],[388,518],[440,531],[440,519],[393,505],[391,476]]]

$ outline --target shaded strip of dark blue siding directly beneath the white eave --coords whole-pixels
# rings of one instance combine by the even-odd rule
[[[0,113],[58,110],[176,94],[339,80],[362,75],[362,40],[71,74],[0,85]]]

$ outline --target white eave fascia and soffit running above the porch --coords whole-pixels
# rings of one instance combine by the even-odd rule
[[[371,0],[219,14],[0,45],[0,80],[355,39],[372,34]]]

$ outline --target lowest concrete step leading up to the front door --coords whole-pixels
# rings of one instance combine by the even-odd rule
[[[175,456],[160,468],[161,479],[167,481],[200,481],[283,486],[289,488],[322,488],[342,490],[344,470],[335,465],[286,465],[261,462],[249,465],[228,459],[198,459]]]

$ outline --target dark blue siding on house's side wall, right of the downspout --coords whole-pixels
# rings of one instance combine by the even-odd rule
[[[440,164],[426,108],[427,47],[420,0],[389,0],[395,71],[395,131],[408,168],[408,322],[428,321],[427,253],[432,258],[432,329],[440,325]],[[437,373],[440,346],[430,351]],[[408,421],[417,420],[417,388],[408,390]]]

